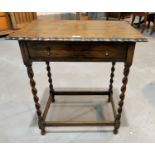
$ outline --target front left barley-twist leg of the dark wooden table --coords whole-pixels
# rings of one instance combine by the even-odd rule
[[[32,70],[32,65],[26,65],[27,67],[27,74],[28,77],[30,79],[30,85],[31,85],[31,89],[32,89],[32,94],[33,94],[33,100],[35,102],[35,107],[36,107],[36,112],[37,112],[37,116],[38,116],[38,126],[41,129],[41,134],[44,135],[45,134],[45,126],[44,126],[44,122],[42,119],[42,112],[40,110],[40,104],[39,104],[39,97],[37,96],[37,89],[36,89],[36,82],[34,81],[33,77],[34,77],[34,73]]]

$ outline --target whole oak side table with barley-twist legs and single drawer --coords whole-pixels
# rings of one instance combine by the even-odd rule
[[[124,104],[128,74],[133,61],[136,42],[147,41],[139,32],[123,21],[36,20],[7,39],[18,40],[24,65],[30,79],[33,99],[41,134],[49,126],[114,126],[117,134]],[[52,84],[50,62],[111,62],[110,84],[107,91],[55,91]],[[45,62],[49,81],[49,99],[41,111],[32,69],[33,62]],[[124,63],[122,87],[118,109],[113,101],[115,64]],[[46,121],[48,109],[55,95],[107,95],[111,102],[113,121]]]

